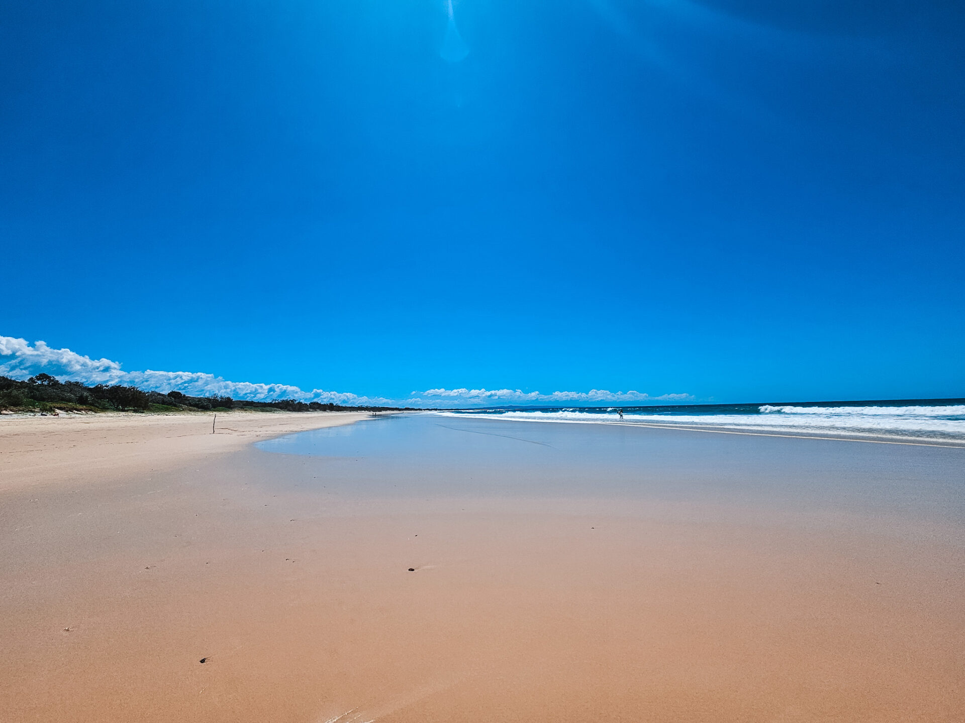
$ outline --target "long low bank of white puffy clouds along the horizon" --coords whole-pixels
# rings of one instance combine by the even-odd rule
[[[407,399],[388,399],[363,396],[344,391],[312,389],[305,391],[284,384],[255,384],[231,382],[213,374],[193,371],[124,371],[120,362],[91,359],[69,349],[54,349],[43,341],[33,345],[26,339],[0,336],[0,376],[28,379],[36,374],[50,374],[62,381],[84,384],[126,385],[149,391],[177,390],[190,396],[230,396],[249,401],[297,399],[302,402],[322,402],[345,406],[400,406],[400,407],[492,407],[510,404],[586,404],[628,402],[686,402],[690,394],[650,396],[639,391],[554,391],[542,394],[521,389],[445,389],[413,391]]]

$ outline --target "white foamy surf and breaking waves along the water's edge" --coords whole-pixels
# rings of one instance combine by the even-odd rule
[[[444,414],[516,421],[659,424],[780,433],[913,437],[965,442],[965,405],[944,407],[774,407],[764,405],[759,408],[759,414],[627,412],[622,419],[616,414],[577,411]]]

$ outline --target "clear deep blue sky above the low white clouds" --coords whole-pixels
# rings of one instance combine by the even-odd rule
[[[952,2],[0,9],[0,335],[125,370],[965,395]],[[0,362],[5,360],[0,358]]]

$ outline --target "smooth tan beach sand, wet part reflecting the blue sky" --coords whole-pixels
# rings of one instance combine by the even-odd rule
[[[960,450],[272,422],[0,425],[5,720],[965,719]]]

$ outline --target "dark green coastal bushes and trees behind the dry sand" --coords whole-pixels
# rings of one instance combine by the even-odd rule
[[[322,402],[276,399],[252,402],[230,396],[189,396],[179,391],[146,391],[137,387],[62,382],[50,374],[26,381],[0,377],[0,410],[11,412],[382,412],[395,407],[345,407]]]

